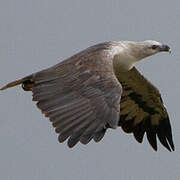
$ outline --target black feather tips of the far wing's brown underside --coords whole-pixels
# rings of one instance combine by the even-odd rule
[[[126,121],[125,115],[121,116],[119,121],[119,126],[126,133],[133,132],[135,139],[142,143],[144,134],[146,132],[147,139],[152,148],[157,151],[157,137],[160,143],[170,152],[175,150],[171,125],[169,118],[161,119],[158,125],[153,125],[151,121],[151,116],[148,116],[144,121],[139,124],[134,125],[133,121]]]

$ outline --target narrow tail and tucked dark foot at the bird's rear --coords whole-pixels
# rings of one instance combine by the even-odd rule
[[[2,88],[0,88],[0,90],[2,91],[2,90],[5,90],[5,89],[8,89],[8,88],[20,85],[20,84],[22,84],[22,87],[25,91],[31,90],[31,88],[33,87],[33,84],[34,84],[32,75],[27,76],[22,79],[19,79],[19,80],[16,80],[16,81],[13,81],[13,82],[10,82],[10,83],[6,84],[5,86],[3,86]]]

